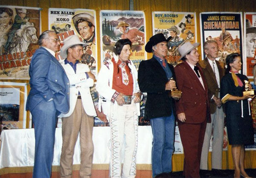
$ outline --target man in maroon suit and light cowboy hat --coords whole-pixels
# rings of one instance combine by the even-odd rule
[[[199,43],[184,43],[178,51],[182,63],[174,70],[177,88],[182,91],[176,102],[180,138],[184,150],[185,177],[199,178],[201,150],[207,121],[210,121],[207,84],[195,49]]]

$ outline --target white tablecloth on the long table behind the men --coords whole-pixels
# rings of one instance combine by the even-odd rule
[[[26,167],[34,165],[34,129],[3,130],[0,139],[0,169],[4,167]],[[109,140],[110,127],[93,128],[93,164],[109,164]],[[151,164],[151,145],[151,127],[139,126],[137,164]],[[60,165],[61,146],[61,128],[57,128],[52,165]],[[75,147],[73,164],[80,164],[79,137]]]

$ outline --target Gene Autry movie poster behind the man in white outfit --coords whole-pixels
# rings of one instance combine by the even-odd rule
[[[139,68],[145,53],[145,15],[143,11],[100,11],[101,63],[111,60],[120,39],[131,40],[130,59]]]

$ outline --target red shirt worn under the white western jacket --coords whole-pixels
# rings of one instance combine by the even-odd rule
[[[124,95],[133,95],[134,82],[132,78],[131,69],[129,68],[128,64],[126,63],[125,65],[125,71],[128,75],[129,83],[128,85],[125,85],[122,82],[122,69],[119,67],[122,61],[119,59],[118,62],[116,63],[114,58],[112,58],[111,61],[113,62],[113,65],[114,65],[112,88],[118,91],[119,93],[123,93]]]

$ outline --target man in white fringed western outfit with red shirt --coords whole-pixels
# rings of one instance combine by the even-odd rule
[[[110,177],[135,178],[142,93],[137,82],[136,67],[129,60],[131,41],[118,40],[114,53],[117,56],[103,62],[96,85],[100,95],[99,110],[102,108],[111,126]],[[124,138],[124,164],[121,168]]]

